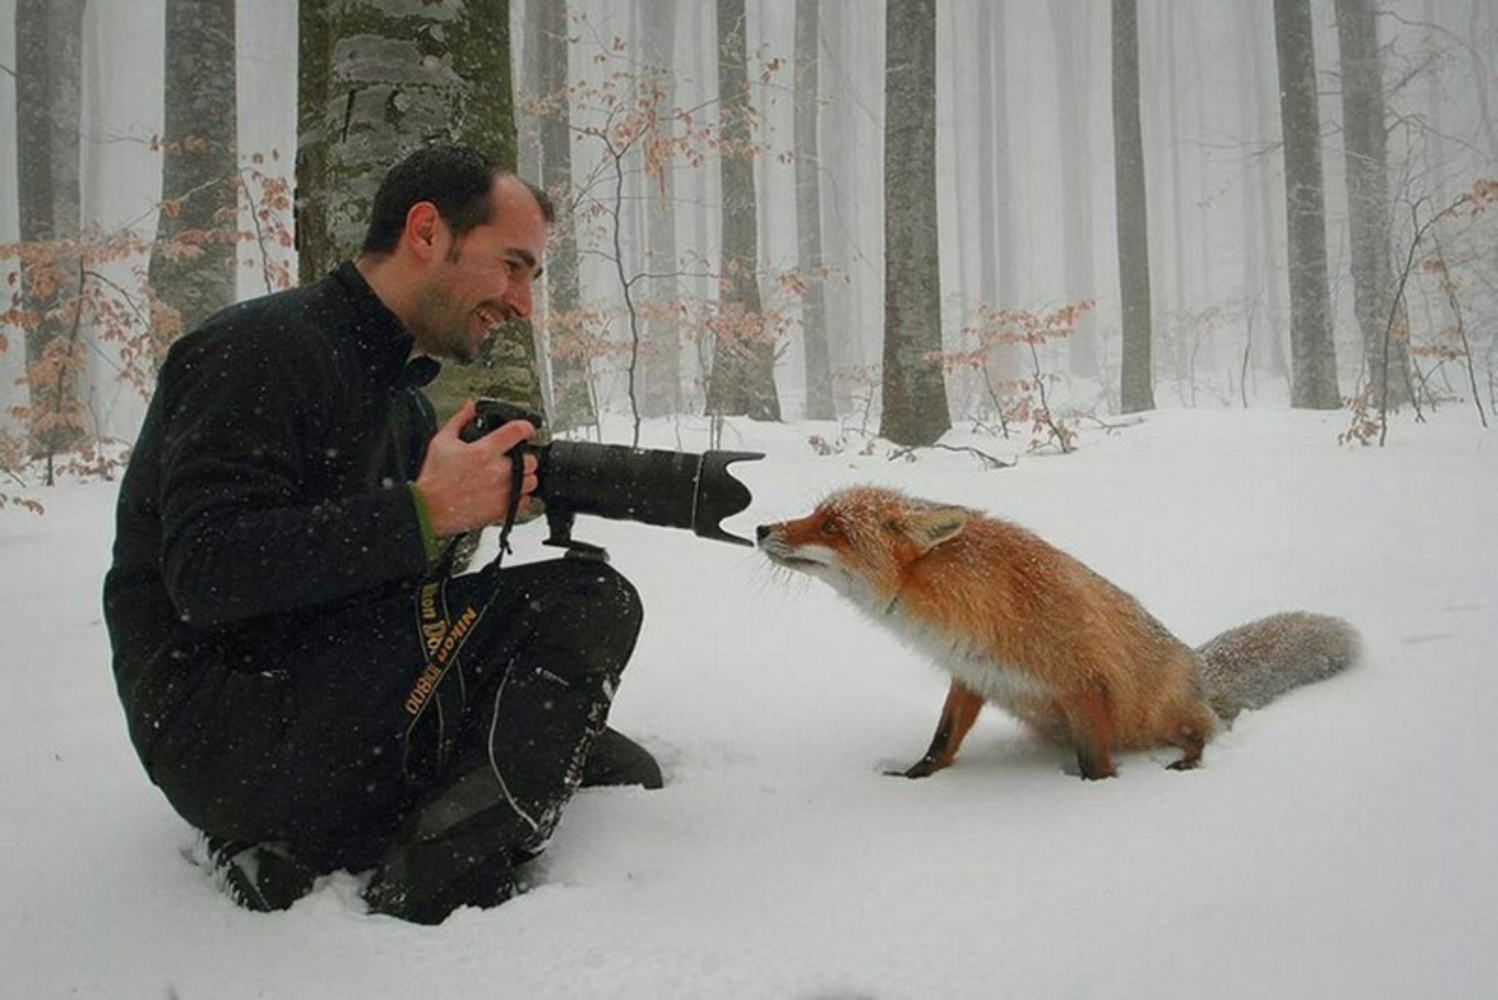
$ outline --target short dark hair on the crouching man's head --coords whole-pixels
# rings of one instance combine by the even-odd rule
[[[389,253],[406,229],[406,216],[416,202],[437,207],[442,222],[457,240],[469,229],[482,226],[490,217],[488,192],[494,177],[508,171],[478,150],[464,145],[430,145],[416,150],[391,168],[374,193],[370,228],[364,234],[364,253]],[[544,190],[518,178],[530,190],[541,216],[556,222],[551,198]]]

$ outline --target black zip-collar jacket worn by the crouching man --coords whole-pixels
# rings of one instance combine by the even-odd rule
[[[416,386],[436,365],[407,364],[410,347],[352,263],[172,346],[120,487],[103,585],[148,771],[207,672],[292,671],[291,636],[427,569],[406,484],[434,430]]]

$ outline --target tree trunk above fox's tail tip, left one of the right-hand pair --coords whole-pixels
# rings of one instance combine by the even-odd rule
[[[1311,0],[1275,0],[1279,120],[1290,231],[1290,404],[1335,410],[1336,343],[1326,266],[1321,117],[1317,111]]]

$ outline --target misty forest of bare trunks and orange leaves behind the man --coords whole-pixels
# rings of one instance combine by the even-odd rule
[[[0,506],[111,476],[172,340],[352,256],[439,141],[559,207],[533,322],[439,409],[1486,425],[1495,63],[1495,0],[6,0]]]

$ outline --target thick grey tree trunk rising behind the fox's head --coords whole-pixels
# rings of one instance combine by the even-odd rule
[[[884,407],[879,434],[932,445],[951,427],[936,240],[936,0],[884,12]]]

